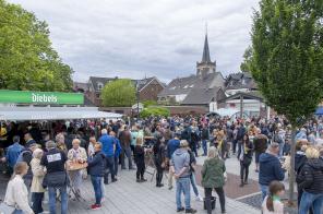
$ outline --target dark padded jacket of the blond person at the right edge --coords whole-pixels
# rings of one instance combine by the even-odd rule
[[[299,188],[313,194],[323,193],[323,160],[308,159],[297,176]]]

